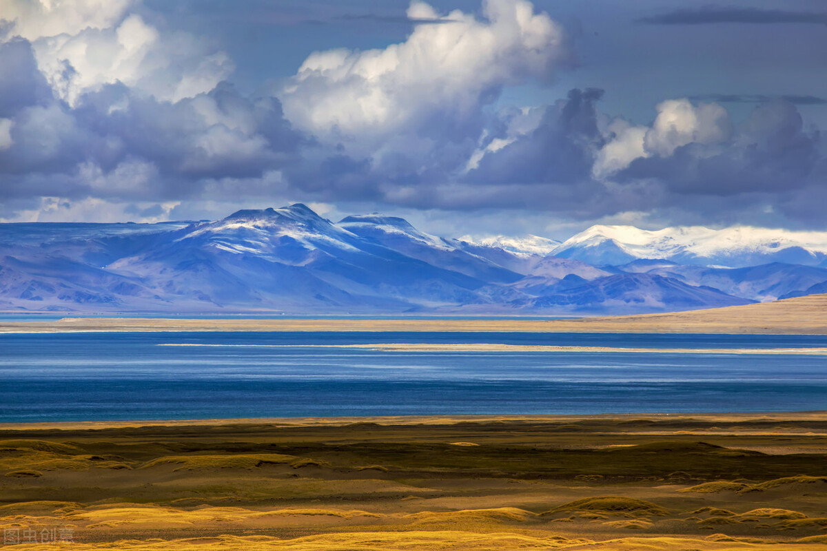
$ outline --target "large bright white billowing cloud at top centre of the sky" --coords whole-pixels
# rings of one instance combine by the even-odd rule
[[[502,86],[551,78],[566,55],[561,26],[525,0],[485,0],[483,13],[420,23],[385,50],[310,55],[281,94],[286,116],[322,138],[359,135],[376,145],[434,116],[476,114]],[[418,1],[408,16],[440,17]]]

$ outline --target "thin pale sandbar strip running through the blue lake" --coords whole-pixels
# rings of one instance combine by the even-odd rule
[[[610,346],[549,346],[546,344],[497,344],[497,343],[379,343],[379,344],[212,344],[212,343],[161,343],[156,346],[197,346],[213,348],[326,348],[363,349],[376,352],[592,352],[621,354],[772,354],[772,355],[827,355],[827,348],[776,348],[776,349],[722,349],[722,348],[625,348]]]

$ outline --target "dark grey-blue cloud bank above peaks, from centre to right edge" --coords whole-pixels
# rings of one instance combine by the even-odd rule
[[[412,157],[394,165],[342,153],[314,162],[304,159],[287,173],[294,189],[331,202],[358,199],[461,212],[546,211],[576,220],[661,211],[685,223],[699,223],[698,216],[710,223],[758,223],[769,204],[776,219],[791,216],[799,226],[824,225],[820,209],[806,198],[818,202],[817,197],[827,197],[820,134],[805,127],[790,102],[762,103],[724,141],[693,141],[598,179],[592,174],[596,155],[613,137],[600,124],[605,118],[597,109],[602,95],[601,90],[572,90],[566,100],[544,108],[533,131],[487,151],[467,173],[462,171],[470,154],[466,145],[457,145],[456,157],[447,155],[439,162]],[[505,118],[487,125],[489,137],[482,146],[508,137]],[[399,169],[414,161],[428,166],[418,172]]]

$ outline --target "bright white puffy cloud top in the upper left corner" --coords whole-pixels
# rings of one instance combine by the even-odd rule
[[[104,84],[123,83],[177,102],[215,88],[232,73],[223,52],[186,33],[161,33],[124,0],[12,0],[12,35],[31,40],[37,64],[70,106]]]

